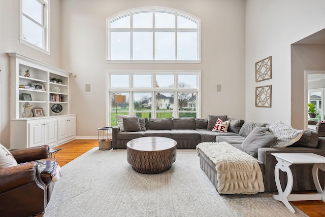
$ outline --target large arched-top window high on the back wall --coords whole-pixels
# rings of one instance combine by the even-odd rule
[[[200,20],[182,12],[142,9],[108,18],[110,61],[199,61]]]

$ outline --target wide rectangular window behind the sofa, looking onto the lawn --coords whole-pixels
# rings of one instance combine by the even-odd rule
[[[116,114],[139,118],[200,116],[200,71],[188,72],[108,72],[109,123],[116,125]],[[125,102],[115,102],[114,95]]]

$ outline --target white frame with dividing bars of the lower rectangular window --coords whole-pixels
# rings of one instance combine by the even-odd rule
[[[152,87],[150,88],[133,88],[133,75],[151,75],[151,83]],[[175,87],[172,88],[160,88],[156,87],[156,75],[174,75],[174,83]],[[129,75],[129,86],[126,88],[112,88],[110,87],[110,75]],[[176,75],[176,76],[175,76]],[[179,88],[178,87],[178,75],[197,75],[197,87],[196,88]],[[174,95],[174,109],[173,117],[179,117],[179,113],[196,113],[196,117],[201,117],[201,70],[106,70],[106,124],[107,126],[111,126],[111,114],[116,111],[112,108],[111,103],[111,94],[112,93],[127,93],[129,96],[128,99],[128,110],[119,111],[118,113],[127,113],[127,114],[135,114],[135,113],[151,113],[152,118],[156,117],[157,113],[170,113],[170,111],[159,111],[156,110],[153,106],[151,106],[151,111],[137,111],[134,109],[134,101],[133,101],[133,93],[141,93],[141,92],[151,92],[152,98],[155,100],[155,94],[159,93],[175,93]],[[196,111],[178,111],[178,100],[175,100],[175,96],[178,99],[178,93],[197,93],[196,98]],[[152,102],[155,104],[155,101]]]

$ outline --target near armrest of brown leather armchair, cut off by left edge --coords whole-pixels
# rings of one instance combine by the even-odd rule
[[[36,162],[0,169],[0,194],[29,183],[36,183],[43,190],[46,188]]]

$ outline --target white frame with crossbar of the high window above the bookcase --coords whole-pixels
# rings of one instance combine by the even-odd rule
[[[43,25],[23,13],[22,1],[23,0],[19,0],[19,42],[21,44],[24,44],[24,45],[30,47],[30,48],[33,48],[40,52],[43,52],[47,55],[50,55],[51,54],[50,53],[50,0],[36,0],[43,5],[43,9],[42,9],[43,10],[42,19],[43,19],[43,23],[44,23]],[[31,22],[34,22],[35,24],[42,27],[42,29],[43,29],[43,31],[42,31],[43,46],[42,47],[43,48],[41,48],[37,45],[34,45],[23,38],[23,32],[22,32],[23,17],[26,17]]]

